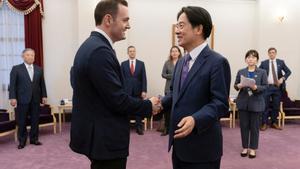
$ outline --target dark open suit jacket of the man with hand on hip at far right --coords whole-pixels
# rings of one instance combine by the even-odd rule
[[[267,59],[267,60],[262,61],[259,66],[259,68],[266,70],[267,76],[269,76],[269,63],[270,63],[269,59]],[[287,80],[288,77],[292,73],[291,70],[286,66],[284,61],[281,59],[276,59],[276,63],[277,63],[277,78],[280,79],[280,78],[284,77],[285,80]],[[280,89],[282,91],[284,91],[286,89],[285,80],[283,81],[283,83],[280,86]]]

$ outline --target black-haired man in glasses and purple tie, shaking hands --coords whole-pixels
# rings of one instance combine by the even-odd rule
[[[174,70],[170,93],[162,99],[171,109],[169,150],[174,169],[219,169],[222,156],[220,118],[228,112],[230,67],[205,41],[212,29],[201,7],[183,7],[177,15],[178,44],[187,54]]]

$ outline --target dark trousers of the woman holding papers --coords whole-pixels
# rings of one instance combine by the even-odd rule
[[[261,113],[239,110],[243,148],[258,148],[259,116]],[[249,138],[250,137],[250,138]]]

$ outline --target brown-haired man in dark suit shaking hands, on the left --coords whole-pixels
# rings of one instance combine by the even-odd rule
[[[158,111],[159,99],[137,99],[123,88],[113,43],[129,29],[125,0],[100,1],[95,31],[78,49],[71,71],[73,109],[70,147],[91,160],[92,169],[125,169],[129,147],[128,115]]]

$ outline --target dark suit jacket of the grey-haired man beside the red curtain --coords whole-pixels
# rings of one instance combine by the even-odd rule
[[[24,63],[13,66],[10,72],[9,99],[17,99],[18,104],[29,104],[31,101],[40,103],[42,97],[47,97],[43,71],[33,65],[33,81]]]

